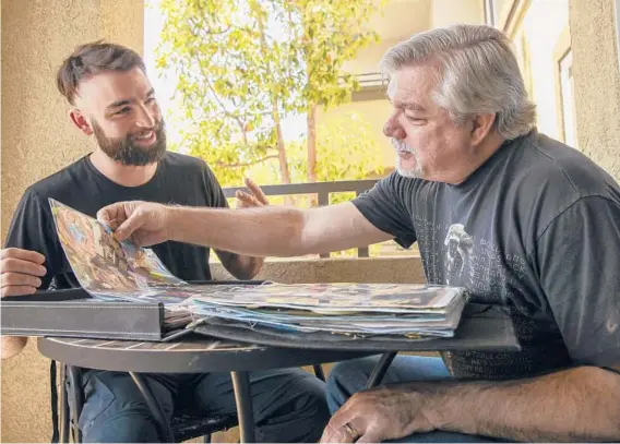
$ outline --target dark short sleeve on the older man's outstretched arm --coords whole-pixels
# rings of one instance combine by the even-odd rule
[[[405,201],[406,195],[409,195],[409,200],[413,199],[410,190],[406,190],[407,185],[412,185],[408,181],[410,179],[393,172],[351,201],[368,221],[394,236],[394,240],[403,248],[412,247],[417,239],[413,215],[407,211],[410,202],[406,205]]]

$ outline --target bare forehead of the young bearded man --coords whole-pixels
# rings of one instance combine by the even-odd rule
[[[75,105],[92,111],[103,110],[119,100],[142,99],[152,89],[148,77],[140,68],[129,71],[103,71],[80,82]]]

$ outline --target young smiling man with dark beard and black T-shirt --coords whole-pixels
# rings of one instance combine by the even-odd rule
[[[48,204],[53,197],[95,216],[103,206],[147,200],[196,207],[226,207],[206,164],[166,152],[164,120],[144,62],[119,45],[79,47],[58,72],[58,88],[71,105],[70,118],[97,148],[29,187],[15,212],[1,253],[2,297],[37,289],[79,286],[62,252]],[[245,206],[266,204],[258,187],[239,195]],[[154,248],[164,264],[186,280],[208,280],[208,248],[166,242]],[[263,259],[216,251],[238,278],[251,278]],[[19,352],[26,338],[2,337],[3,358]],[[166,416],[190,406],[205,416],[235,411],[228,374],[144,375]],[[127,373],[88,370],[79,420],[85,442],[158,442],[156,422]],[[264,442],[315,441],[329,419],[324,383],[300,369],[250,374],[257,439]]]

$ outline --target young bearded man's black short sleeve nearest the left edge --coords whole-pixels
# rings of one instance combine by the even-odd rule
[[[51,209],[46,200],[36,192],[27,190],[22,196],[7,235],[5,248],[32,250],[45,256],[47,275],[40,289],[47,289],[51,279],[60,273],[62,251],[56,236]]]

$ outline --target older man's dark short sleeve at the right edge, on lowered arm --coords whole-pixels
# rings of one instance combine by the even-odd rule
[[[573,361],[620,364],[620,204],[580,199],[541,233],[535,259]]]

